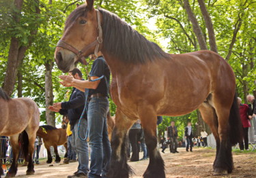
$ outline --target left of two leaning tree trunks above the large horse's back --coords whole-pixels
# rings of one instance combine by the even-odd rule
[[[184,0],[184,9],[186,10],[186,13],[188,14],[188,19],[192,23],[193,31],[197,37],[197,41],[199,43],[200,49],[208,50],[205,38],[203,37],[203,32],[201,30],[201,27],[199,26],[197,18],[195,18],[195,14],[191,10],[188,0]]]

